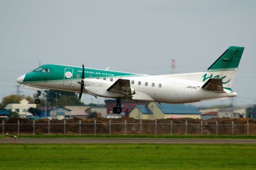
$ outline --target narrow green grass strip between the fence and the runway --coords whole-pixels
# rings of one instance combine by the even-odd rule
[[[9,135],[13,138],[14,135]],[[17,135],[18,138],[198,138],[198,139],[256,139],[256,135],[77,135],[77,134],[44,134]],[[6,138],[6,135],[0,135]]]

